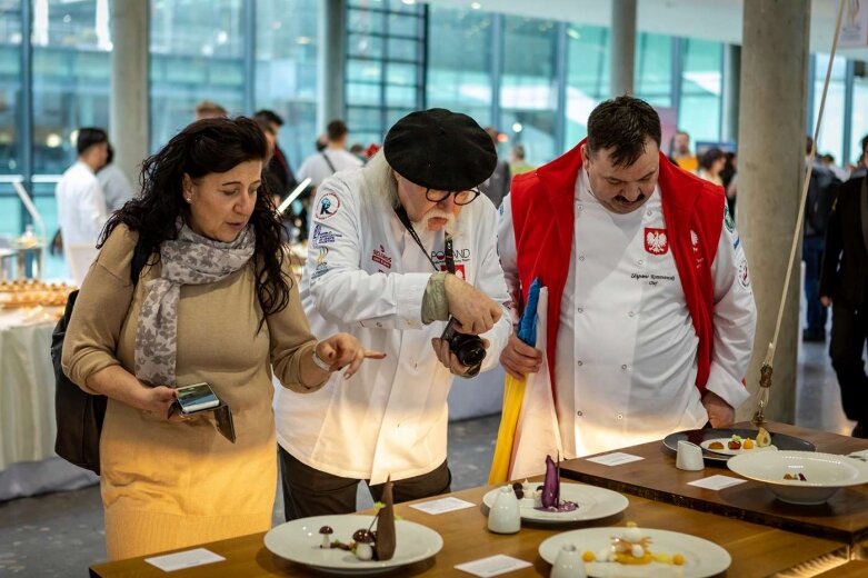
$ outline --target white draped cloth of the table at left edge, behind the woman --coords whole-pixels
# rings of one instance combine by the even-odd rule
[[[76,489],[98,478],[54,454],[52,315],[0,312],[0,501]]]

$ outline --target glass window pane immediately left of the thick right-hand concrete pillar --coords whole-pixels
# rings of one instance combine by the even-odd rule
[[[684,39],[684,71],[678,127],[690,133],[690,142],[720,140],[720,102],[724,46],[720,42]]]

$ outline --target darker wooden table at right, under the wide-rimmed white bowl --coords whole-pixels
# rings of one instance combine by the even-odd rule
[[[750,425],[735,427],[750,428]],[[807,439],[817,446],[817,451],[828,454],[868,449],[868,440],[837,434],[785,423],[770,423],[767,429]],[[645,459],[613,467],[583,458],[573,459],[561,464],[561,475],[622,494],[822,537],[848,546],[868,539],[868,485],[844,488],[822,506],[796,506],[778,501],[765,485],[752,480],[720,491],[688,486],[690,481],[715,474],[741,476],[730,471],[726,464],[714,467],[707,462],[702,471],[679,470],[675,467],[675,455],[659,441],[619,451]]]

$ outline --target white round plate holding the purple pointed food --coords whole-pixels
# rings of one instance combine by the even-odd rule
[[[537,484],[533,482],[536,487]],[[539,482],[541,486],[542,482]],[[495,488],[485,496],[482,502],[491,508],[500,488]],[[532,506],[519,502],[521,519],[546,524],[567,524],[575,521],[598,520],[623,511],[630,502],[617,491],[597,488],[585,484],[560,485],[560,499],[575,501],[579,507],[572,511],[542,511]]]

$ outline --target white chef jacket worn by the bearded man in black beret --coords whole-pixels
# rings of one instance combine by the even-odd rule
[[[422,297],[433,267],[377,193],[365,169],[327,179],[312,206],[301,299],[319,338],[355,335],[387,353],[367,360],[349,380],[340,371],[312,393],[278,391],[277,437],[283,449],[319,470],[371,484],[427,474],[446,460],[447,395],[452,375],[431,339],[443,321],[423,325]],[[497,257],[497,212],[485,197],[465,206],[452,237],[457,275],[506,306]],[[417,231],[446,270],[442,231]],[[503,316],[482,337],[490,341],[482,370],[498,362],[511,329]]]

